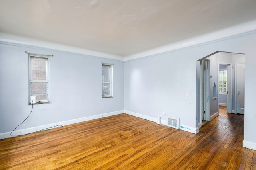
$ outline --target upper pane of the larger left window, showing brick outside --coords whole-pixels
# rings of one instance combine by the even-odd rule
[[[30,80],[47,80],[45,58],[30,58]]]

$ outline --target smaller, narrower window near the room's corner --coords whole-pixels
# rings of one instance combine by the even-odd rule
[[[112,65],[102,64],[102,98],[112,97]]]

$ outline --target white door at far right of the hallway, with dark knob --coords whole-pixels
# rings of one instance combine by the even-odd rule
[[[244,114],[245,64],[236,64],[236,113]]]

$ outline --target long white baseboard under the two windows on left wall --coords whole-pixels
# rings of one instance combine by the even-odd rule
[[[82,117],[82,118],[78,118],[78,119],[62,121],[62,122],[58,122],[58,123],[52,123],[52,124],[42,125],[42,126],[37,126],[37,127],[31,127],[31,128],[27,128],[27,129],[20,129],[20,130],[13,131],[12,135],[15,135],[15,136],[25,135],[25,134],[40,131],[42,129],[46,129],[46,128],[49,128],[49,127],[54,127],[54,126],[60,127],[58,125],[62,125],[62,126],[71,125],[71,124],[74,124],[74,123],[79,123],[79,122],[93,120],[93,119],[99,119],[99,118],[102,118],[102,117],[108,117],[108,116],[118,115],[118,114],[122,114],[122,113],[124,113],[124,110],[114,111],[114,112],[110,112],[110,113],[103,113],[103,114],[93,115],[93,116],[88,116],[88,117]],[[10,133],[11,132],[0,133],[0,139],[12,137],[10,135]]]

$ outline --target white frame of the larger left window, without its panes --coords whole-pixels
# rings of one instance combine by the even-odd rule
[[[42,58],[46,59],[46,80],[32,80],[32,72],[30,72],[30,59],[31,58]],[[47,83],[46,87],[46,100],[38,100],[36,99],[36,103],[50,103],[50,56],[40,56],[40,55],[28,55],[28,80],[29,80],[29,100],[28,102],[30,103],[31,101],[31,95],[32,95],[32,83],[33,82],[45,82]]]

